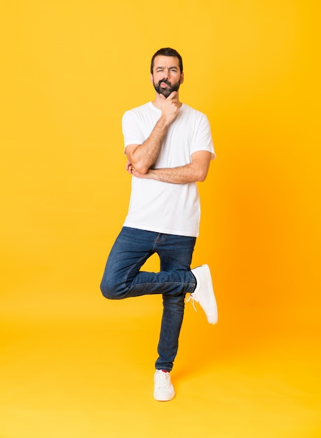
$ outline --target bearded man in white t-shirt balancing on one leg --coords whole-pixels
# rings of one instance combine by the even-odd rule
[[[184,299],[198,302],[209,323],[217,323],[210,269],[190,268],[198,236],[200,202],[197,182],[204,181],[214,158],[206,116],[179,101],[184,81],[182,57],[163,48],[151,59],[152,102],[123,115],[127,171],[132,175],[128,215],[109,254],[101,290],[123,299],[163,295],[153,396],[172,400],[170,371],[177,355]],[[160,272],[140,271],[157,253]]]

